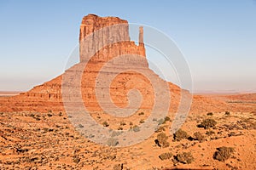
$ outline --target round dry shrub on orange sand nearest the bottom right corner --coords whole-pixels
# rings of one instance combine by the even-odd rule
[[[214,153],[213,158],[218,161],[226,161],[232,156],[233,152],[235,151],[234,148],[226,147],[226,146],[217,148],[217,150],[218,151]]]

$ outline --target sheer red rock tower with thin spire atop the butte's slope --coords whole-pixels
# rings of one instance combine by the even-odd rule
[[[130,41],[129,25],[126,20],[89,14],[83,18],[80,26],[80,62],[88,61],[92,56],[96,62],[106,62],[122,54],[145,57],[142,27],[139,31],[139,41],[139,46]],[[98,53],[102,48],[104,50]]]

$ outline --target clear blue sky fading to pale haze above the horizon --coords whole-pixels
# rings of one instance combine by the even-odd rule
[[[183,53],[195,93],[256,92],[255,0],[0,0],[0,91],[61,75],[87,14],[164,32]]]

